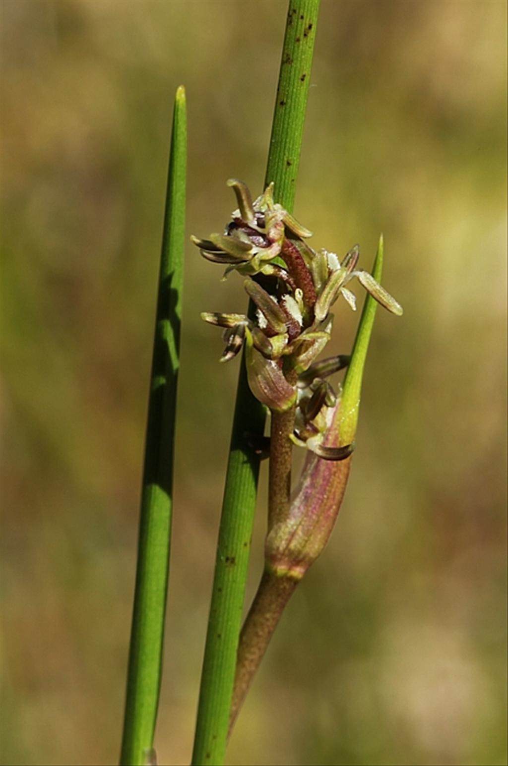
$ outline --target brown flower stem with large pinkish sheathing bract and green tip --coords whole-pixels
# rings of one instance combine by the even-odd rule
[[[377,281],[381,279],[382,262],[381,236],[372,269],[372,276]],[[326,434],[326,444],[330,447],[349,444],[354,440],[363,370],[376,309],[377,303],[372,296],[366,296],[342,398],[336,407],[336,418]],[[277,437],[277,450],[280,450],[280,453],[272,453],[274,443],[270,444],[270,487],[272,482],[274,484],[270,503],[273,502],[274,506],[270,507],[264,575],[241,630],[230,733],[287,602],[329,539],[351,466],[350,457],[343,462],[333,463],[308,455],[300,485],[294,493],[293,502],[289,502],[284,487],[284,482],[288,480],[288,464],[283,445],[288,440],[288,434],[286,432],[284,436],[283,429],[290,427],[290,417],[284,419],[286,416],[289,413],[272,416],[272,438],[274,435]],[[274,423],[277,424],[275,434]],[[274,476],[271,476],[272,471]]]

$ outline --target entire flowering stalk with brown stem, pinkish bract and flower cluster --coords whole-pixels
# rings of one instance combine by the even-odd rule
[[[234,358],[244,345],[251,392],[271,414],[265,571],[241,631],[231,732],[280,614],[297,582],[323,551],[336,522],[349,476],[362,369],[374,318],[369,300],[396,316],[402,309],[376,279],[381,274],[382,239],[372,275],[357,269],[358,245],[342,262],[327,250],[313,250],[303,239],[310,237],[310,231],[274,202],[272,184],[254,202],[238,180],[228,185],[237,196],[238,210],[225,234],[193,241],[204,257],[228,264],[226,273],[249,275],[244,288],[256,309],[251,316],[214,313],[203,318],[225,327],[222,361]],[[356,309],[355,297],[346,287],[355,277],[369,296],[352,357],[318,361],[331,335],[336,300],[342,296]],[[270,292],[263,286],[267,282]],[[341,401],[328,378],[348,362],[351,372],[346,375]],[[293,444],[310,453],[290,499]]]

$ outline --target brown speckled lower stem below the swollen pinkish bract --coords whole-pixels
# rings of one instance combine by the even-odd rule
[[[229,734],[231,734],[241,705],[251,686],[251,681],[270,643],[270,638],[298,583],[299,580],[277,577],[269,571],[263,573],[240,634],[229,718]]]

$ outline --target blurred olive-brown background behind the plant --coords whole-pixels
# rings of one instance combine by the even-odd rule
[[[117,760],[172,100],[206,235],[227,178],[261,191],[286,11],[2,2],[5,764]],[[295,214],[366,268],[383,231],[405,316],[378,313],[339,522],[230,764],[506,763],[505,46],[497,0],[323,2]],[[198,316],[244,310],[220,277],[189,243],[161,764],[192,748],[238,375]]]

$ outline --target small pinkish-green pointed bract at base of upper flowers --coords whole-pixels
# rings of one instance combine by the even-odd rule
[[[285,412],[297,399],[297,389],[290,385],[277,362],[265,358],[254,348],[251,331],[245,329],[245,366],[247,381],[254,396],[275,412]]]

